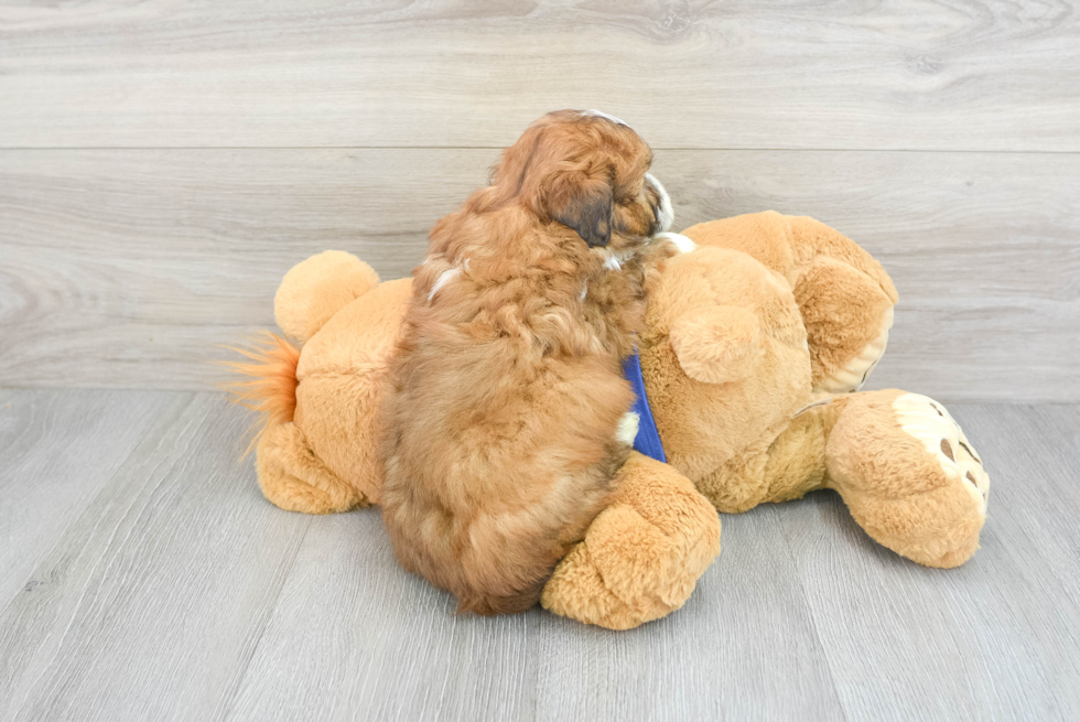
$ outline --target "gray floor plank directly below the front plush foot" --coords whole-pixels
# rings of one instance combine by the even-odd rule
[[[552,619],[538,718],[841,719],[777,509],[724,516],[721,547],[687,605],[655,624],[613,635]]]

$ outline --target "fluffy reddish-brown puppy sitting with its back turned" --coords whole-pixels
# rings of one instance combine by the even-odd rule
[[[649,147],[562,110],[431,231],[393,369],[382,516],[461,611],[521,612],[607,504],[636,428],[620,364],[674,252]]]

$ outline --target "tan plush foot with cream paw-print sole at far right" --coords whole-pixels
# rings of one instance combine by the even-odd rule
[[[896,389],[838,403],[827,486],[893,551],[928,567],[966,561],[986,520],[990,477],[944,407]]]

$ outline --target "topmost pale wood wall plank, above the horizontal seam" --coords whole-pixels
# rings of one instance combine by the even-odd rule
[[[1071,1],[6,3],[0,144],[1080,151]]]

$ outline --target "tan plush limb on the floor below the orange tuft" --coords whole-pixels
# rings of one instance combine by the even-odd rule
[[[334,514],[369,505],[360,492],[326,468],[291,421],[268,427],[256,454],[262,494],[287,511]]]

